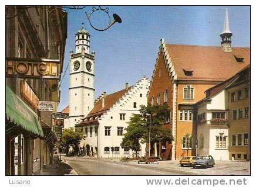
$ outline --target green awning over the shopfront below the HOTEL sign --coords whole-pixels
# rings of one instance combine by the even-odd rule
[[[26,105],[16,94],[6,85],[5,89],[6,117],[16,126],[29,131],[35,136],[43,137],[43,130],[38,121],[38,115]]]

